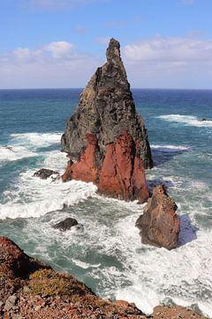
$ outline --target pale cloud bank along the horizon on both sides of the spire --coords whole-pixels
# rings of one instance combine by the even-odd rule
[[[121,51],[132,87],[212,89],[210,39],[156,36]],[[84,87],[103,62],[64,41],[16,48],[0,56],[0,88]]]

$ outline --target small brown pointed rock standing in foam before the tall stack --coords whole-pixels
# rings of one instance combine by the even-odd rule
[[[176,248],[180,230],[178,215],[175,213],[177,208],[164,186],[156,186],[152,198],[148,199],[144,213],[136,222],[143,244],[167,249]]]

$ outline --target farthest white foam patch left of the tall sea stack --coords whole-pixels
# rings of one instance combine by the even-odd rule
[[[49,146],[50,144],[59,144],[61,139],[61,132],[54,133],[20,133],[11,134],[14,142],[19,144],[30,144],[36,147]]]

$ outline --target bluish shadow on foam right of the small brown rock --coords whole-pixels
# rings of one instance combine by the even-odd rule
[[[198,227],[192,224],[189,214],[179,216],[180,219],[180,233],[178,237],[178,246],[186,245],[197,239]]]

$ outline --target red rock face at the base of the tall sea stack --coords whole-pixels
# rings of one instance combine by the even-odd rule
[[[115,143],[107,145],[101,167],[96,165],[99,149],[96,138],[87,135],[86,151],[77,163],[67,167],[62,179],[92,182],[98,191],[112,198],[138,199],[141,203],[149,197],[142,160],[136,156],[139,151],[132,136],[125,131]]]

